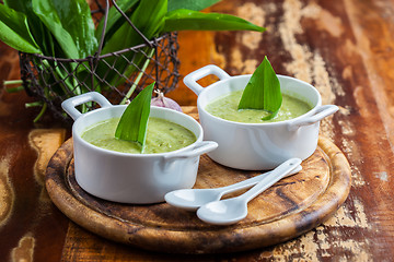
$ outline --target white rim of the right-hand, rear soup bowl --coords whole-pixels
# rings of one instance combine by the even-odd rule
[[[227,124],[230,124],[230,126],[241,126],[241,127],[269,127],[269,126],[282,126],[282,124],[288,124],[288,123],[291,123],[292,121],[296,121],[298,119],[301,119],[301,118],[304,118],[304,117],[309,117],[311,115],[313,115],[317,107],[320,107],[322,105],[322,96],[321,94],[318,93],[318,91],[316,90],[316,87],[314,87],[313,85],[302,81],[302,80],[299,80],[299,79],[296,79],[296,78],[291,78],[291,76],[288,76],[288,75],[281,75],[281,74],[277,74],[278,78],[282,78],[282,79],[290,79],[292,81],[296,81],[296,82],[301,82],[302,84],[306,85],[308,87],[310,87],[313,92],[316,93],[317,95],[317,103],[314,107],[312,107],[311,110],[309,110],[308,112],[297,117],[297,118],[291,118],[291,119],[288,119],[288,120],[283,120],[283,121],[278,121],[278,122],[265,122],[265,123],[245,123],[245,122],[236,122],[236,121],[230,121],[230,120],[227,120],[227,119],[223,119],[223,118],[219,118],[219,117],[216,117],[213,115],[211,115],[210,112],[208,112],[201,105],[200,105],[200,95],[205,92],[209,92],[209,90],[212,90],[212,88],[216,88],[217,85],[220,85],[224,82],[229,82],[229,81],[232,81],[234,79],[243,79],[243,78],[250,78],[252,76],[252,74],[242,74],[242,75],[234,75],[234,76],[230,76],[229,79],[224,79],[224,80],[221,80],[221,81],[218,81],[207,87],[204,87],[204,90],[201,91],[201,93],[198,95],[197,97],[197,107],[199,110],[202,110],[204,114],[208,115],[209,117],[216,119],[217,121],[220,121],[222,123],[227,123]],[[225,95],[225,94],[223,94]]]

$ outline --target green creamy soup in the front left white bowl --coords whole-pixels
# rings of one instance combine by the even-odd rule
[[[119,119],[112,118],[93,124],[83,132],[82,139],[105,150],[140,154],[141,146],[138,143],[115,138]],[[192,131],[177,123],[161,118],[149,118],[143,154],[176,151],[193,144],[196,140]]]

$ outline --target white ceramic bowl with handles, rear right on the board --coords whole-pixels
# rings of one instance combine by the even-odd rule
[[[220,81],[200,86],[197,81],[207,75]],[[246,169],[273,169],[280,163],[298,157],[305,159],[317,146],[320,120],[338,110],[335,105],[322,106],[322,98],[312,85],[289,76],[278,75],[281,92],[308,102],[313,108],[286,121],[241,123],[209,114],[205,108],[212,100],[243,90],[251,75],[230,76],[216,66],[207,66],[184,78],[184,83],[198,95],[197,108],[205,139],[216,141],[219,147],[208,155],[224,166]]]

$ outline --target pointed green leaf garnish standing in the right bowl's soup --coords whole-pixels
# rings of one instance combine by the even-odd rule
[[[276,117],[282,103],[280,83],[267,57],[253,73],[242,93],[239,109],[260,109],[270,115],[263,118],[269,120]]]

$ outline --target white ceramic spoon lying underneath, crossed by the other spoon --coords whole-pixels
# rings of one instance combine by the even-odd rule
[[[301,171],[302,167],[299,165],[291,172],[288,174],[294,175]],[[208,204],[209,202],[220,200],[224,194],[235,192],[242,189],[251,188],[258,183],[263,178],[271,176],[273,171],[267,171],[259,176],[246,179],[244,181],[233,183],[222,188],[212,188],[212,189],[179,189],[172,192],[169,192],[164,195],[165,201],[176,207],[196,211],[201,205]]]

